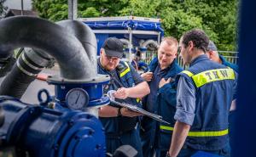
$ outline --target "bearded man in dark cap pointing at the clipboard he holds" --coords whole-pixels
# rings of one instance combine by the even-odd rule
[[[120,59],[123,56],[123,43],[115,37],[109,37],[101,48],[101,56],[97,60],[98,73],[109,75],[111,81],[104,87],[104,93],[116,90],[113,96],[120,103],[141,105],[137,98],[147,95],[149,87],[131,66]],[[113,152],[121,145],[131,145],[137,149],[137,157],[143,157],[142,145],[137,126],[137,112],[120,108],[115,104],[101,107],[99,117],[105,128],[107,152]]]

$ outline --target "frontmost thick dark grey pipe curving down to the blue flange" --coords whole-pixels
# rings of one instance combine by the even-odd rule
[[[77,80],[94,77],[91,75],[93,68],[81,42],[49,20],[31,16],[1,20],[0,53],[21,47],[38,48],[49,53],[60,64],[63,78]]]

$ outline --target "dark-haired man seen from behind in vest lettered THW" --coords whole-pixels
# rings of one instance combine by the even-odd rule
[[[197,151],[230,156],[228,116],[236,92],[236,72],[205,54],[209,39],[191,30],[180,39],[189,69],[178,76],[176,124],[166,156],[191,156]]]

